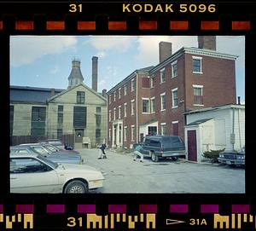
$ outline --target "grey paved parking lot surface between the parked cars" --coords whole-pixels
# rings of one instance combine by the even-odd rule
[[[104,188],[96,193],[245,193],[245,169],[227,165],[196,164],[180,159],[133,161],[131,153],[106,150],[108,159],[97,159],[97,149],[77,150],[84,165],[102,170]]]

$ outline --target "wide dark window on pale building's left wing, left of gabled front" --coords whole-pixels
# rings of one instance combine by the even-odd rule
[[[32,107],[31,136],[45,135],[46,107]]]

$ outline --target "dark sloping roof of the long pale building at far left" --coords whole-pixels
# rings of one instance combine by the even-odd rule
[[[16,102],[35,102],[46,103],[51,96],[49,88],[34,88],[28,86],[10,86],[9,97],[10,101]],[[61,89],[54,89],[55,94],[61,93]]]

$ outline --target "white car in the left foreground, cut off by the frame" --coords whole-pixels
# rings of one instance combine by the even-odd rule
[[[60,165],[37,153],[10,153],[10,193],[88,193],[103,181],[102,172],[88,165]]]

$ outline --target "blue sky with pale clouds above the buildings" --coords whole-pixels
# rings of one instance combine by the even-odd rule
[[[67,89],[73,59],[81,61],[84,84],[91,87],[91,58],[98,57],[98,91],[146,66],[159,63],[160,41],[198,47],[196,36],[12,36],[10,85]],[[245,37],[217,36],[217,51],[238,55],[236,95],[245,102]]]

